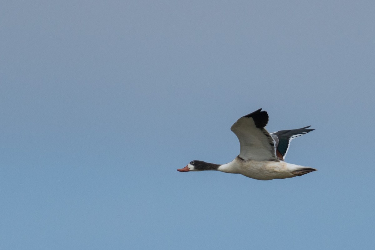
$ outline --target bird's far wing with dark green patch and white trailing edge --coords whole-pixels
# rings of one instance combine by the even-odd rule
[[[288,148],[289,148],[291,140],[314,130],[310,127],[311,126],[297,128],[295,130],[280,130],[280,131],[271,133],[273,139],[276,142],[275,143],[276,155],[279,158],[279,160],[284,160],[285,157],[287,156],[287,152],[288,152]]]

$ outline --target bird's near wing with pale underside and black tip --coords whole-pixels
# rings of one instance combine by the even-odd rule
[[[240,155],[243,160],[278,161],[275,142],[264,128],[268,122],[266,111],[258,109],[251,114],[242,116],[235,122],[231,131],[240,141]]]

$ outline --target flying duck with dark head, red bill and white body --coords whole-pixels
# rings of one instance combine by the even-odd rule
[[[186,167],[177,170],[180,172],[218,170],[225,173],[239,173],[258,180],[285,179],[316,171],[317,169],[311,167],[284,161],[291,140],[314,129],[308,126],[269,133],[264,128],[268,119],[267,112],[260,108],[242,116],[232,125],[231,131],[240,141],[240,154],[230,163],[220,165],[194,160]]]

